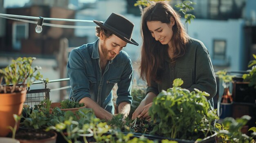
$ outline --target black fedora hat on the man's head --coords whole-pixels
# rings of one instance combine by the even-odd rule
[[[132,39],[132,30],[134,24],[123,15],[111,13],[111,15],[104,23],[97,20],[93,20],[93,22],[101,28],[115,34],[121,40],[137,46],[139,45],[135,40]]]

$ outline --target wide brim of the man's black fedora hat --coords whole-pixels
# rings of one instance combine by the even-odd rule
[[[119,34],[118,31],[116,31],[116,29],[111,29],[111,28],[109,28],[108,26],[103,25],[103,22],[100,22],[100,21],[98,21],[98,20],[93,20],[93,22],[94,22],[95,24],[97,24],[98,26],[100,26],[100,27],[102,27],[102,28],[104,28],[104,29],[106,29],[106,30],[108,30],[108,31],[111,31],[113,34],[115,34],[115,35],[116,35],[117,37],[119,37],[121,40],[124,40],[125,42],[130,43],[130,44],[134,44],[134,45],[136,45],[136,46],[139,46],[139,44],[138,44],[135,40],[133,40],[132,38],[131,38],[131,40],[127,39],[127,38],[124,37],[123,35]]]

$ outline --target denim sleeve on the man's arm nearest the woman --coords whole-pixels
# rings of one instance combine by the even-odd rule
[[[117,83],[118,89],[117,89],[117,107],[122,102],[132,103],[132,96],[131,96],[131,90],[132,90],[132,62],[129,58],[129,61],[126,64],[126,67],[124,68],[124,72],[121,75],[121,80]]]

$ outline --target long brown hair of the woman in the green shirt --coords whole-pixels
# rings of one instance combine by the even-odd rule
[[[140,62],[140,77],[147,81],[148,86],[151,85],[151,80],[157,83],[161,82],[161,74],[164,70],[166,57],[168,58],[168,44],[162,45],[152,37],[148,30],[148,21],[160,21],[170,24],[171,17],[175,20],[172,28],[173,36],[171,38],[173,57],[172,63],[175,63],[178,57],[182,57],[186,51],[186,43],[189,41],[189,36],[180,21],[180,15],[171,7],[168,2],[156,2],[146,7],[143,11],[141,21],[141,62]]]

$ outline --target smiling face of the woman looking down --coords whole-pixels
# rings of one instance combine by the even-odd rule
[[[175,20],[171,18],[171,22],[162,23],[161,21],[148,21],[147,26],[151,35],[156,41],[161,42],[161,44],[171,46],[171,38],[173,36],[173,25]]]

